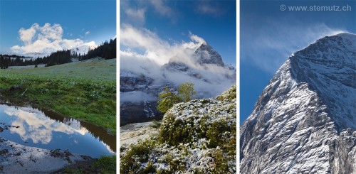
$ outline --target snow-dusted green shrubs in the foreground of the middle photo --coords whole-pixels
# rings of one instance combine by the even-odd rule
[[[120,148],[120,173],[236,173],[236,86],[175,104],[159,135]]]

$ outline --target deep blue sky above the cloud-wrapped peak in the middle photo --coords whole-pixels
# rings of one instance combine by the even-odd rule
[[[187,43],[191,36],[198,36],[224,62],[236,66],[236,1],[120,1],[120,25],[122,37],[128,37],[132,29],[163,45]],[[121,44],[120,50],[129,48],[133,49]]]

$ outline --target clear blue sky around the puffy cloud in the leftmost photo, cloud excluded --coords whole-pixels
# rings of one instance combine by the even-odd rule
[[[58,23],[63,29],[61,39],[95,41],[98,45],[116,35],[116,1],[0,0],[0,53],[11,52],[14,45],[23,46],[19,30],[31,28],[33,23],[39,27]]]

